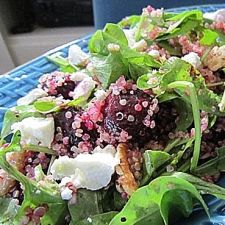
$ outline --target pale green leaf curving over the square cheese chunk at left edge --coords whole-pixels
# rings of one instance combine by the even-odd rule
[[[12,133],[11,126],[14,123],[20,122],[27,117],[43,117],[43,115],[37,112],[32,105],[15,106],[9,109],[4,116],[1,138],[3,139]]]

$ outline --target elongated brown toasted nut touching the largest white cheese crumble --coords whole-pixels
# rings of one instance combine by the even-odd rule
[[[120,164],[117,166],[116,171],[122,173],[119,177],[118,182],[121,184],[124,191],[131,196],[138,188],[135,178],[130,171],[129,162],[127,159],[128,147],[126,144],[119,144],[117,146],[117,153],[120,159]]]

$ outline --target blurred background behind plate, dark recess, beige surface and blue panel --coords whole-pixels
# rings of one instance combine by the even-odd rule
[[[147,5],[215,3],[225,0],[0,0],[0,74]]]

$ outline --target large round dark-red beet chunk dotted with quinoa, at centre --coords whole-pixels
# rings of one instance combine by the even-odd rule
[[[158,101],[154,96],[129,86],[119,94],[112,92],[106,98],[104,129],[115,135],[124,130],[133,139],[147,137],[155,127],[154,114],[158,111]]]

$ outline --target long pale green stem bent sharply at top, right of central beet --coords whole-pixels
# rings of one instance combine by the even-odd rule
[[[191,82],[187,81],[175,81],[168,85],[168,88],[186,88],[190,93],[190,101],[192,105],[192,113],[194,118],[194,126],[195,126],[195,144],[194,144],[194,152],[191,161],[190,170],[193,172],[198,165],[199,155],[200,155],[200,147],[201,147],[201,120],[200,120],[200,110],[199,103],[197,98],[197,93],[195,90],[195,86]]]

